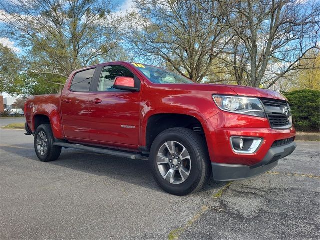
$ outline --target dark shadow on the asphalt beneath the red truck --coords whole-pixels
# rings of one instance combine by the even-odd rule
[[[33,144],[1,145],[3,151],[17,154],[27,160],[40,160],[36,157]],[[55,161],[43,162],[61,167],[74,169],[89,174],[112,177],[152,190],[164,192],[154,181],[147,160],[128,159],[105,154],[86,152],[76,149],[63,149],[60,157]],[[227,182],[215,182],[212,176],[197,194],[210,194],[211,191],[224,186]]]

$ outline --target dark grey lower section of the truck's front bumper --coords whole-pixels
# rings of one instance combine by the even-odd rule
[[[295,142],[272,147],[262,161],[251,166],[212,162],[213,179],[216,181],[240,180],[262,174],[275,167],[279,159],[291,154],[295,148]]]

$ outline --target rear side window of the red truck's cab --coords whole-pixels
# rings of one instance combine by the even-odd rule
[[[76,73],[70,89],[72,91],[89,91],[94,71],[95,68]]]

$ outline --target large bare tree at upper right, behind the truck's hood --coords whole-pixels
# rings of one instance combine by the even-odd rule
[[[319,48],[320,2],[301,0],[219,1],[232,41],[223,64],[232,68],[238,84],[266,88],[293,70]]]

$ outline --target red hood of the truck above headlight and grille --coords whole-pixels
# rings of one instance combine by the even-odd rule
[[[271,91],[267,89],[254,88],[248,86],[236,86],[236,85],[227,85],[236,94],[241,96],[254,96],[254,97],[265,97],[265,98],[273,98],[279,100],[287,100],[281,93],[276,91]]]

